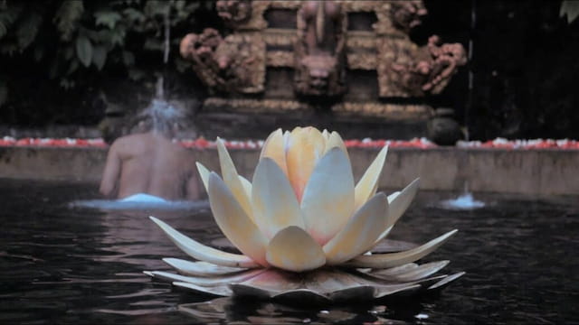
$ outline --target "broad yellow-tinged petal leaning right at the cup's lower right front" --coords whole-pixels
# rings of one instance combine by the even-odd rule
[[[376,194],[358,209],[346,226],[324,246],[327,264],[346,262],[374,246],[386,226],[384,215],[388,213],[387,209],[384,193]]]

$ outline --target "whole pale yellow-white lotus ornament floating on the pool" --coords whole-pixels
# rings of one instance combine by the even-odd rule
[[[452,230],[410,250],[369,254],[410,205],[418,180],[390,196],[376,193],[387,147],[354,183],[346,146],[336,132],[297,127],[263,144],[252,182],[238,175],[221,140],[222,177],[197,163],[215,221],[240,254],[185,237],[151,217],[198,262],[165,258],[179,274],[151,276],[216,296],[375,299],[438,288],[461,274],[431,276],[448,261],[413,262],[451,237]]]

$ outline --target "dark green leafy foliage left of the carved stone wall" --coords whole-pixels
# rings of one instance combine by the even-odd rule
[[[0,60],[35,62],[38,73],[67,89],[85,85],[89,77],[99,76],[97,71],[124,71],[128,79],[141,80],[153,75],[151,69],[162,69],[166,22],[184,31],[171,33],[170,44],[176,46],[202,4],[213,5],[184,0],[0,0]],[[139,60],[143,56],[148,61]],[[155,56],[158,61],[151,65]],[[186,68],[178,51],[172,51],[169,64],[179,71]],[[7,98],[4,82],[0,107]]]

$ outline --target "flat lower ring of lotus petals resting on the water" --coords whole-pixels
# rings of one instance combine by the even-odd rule
[[[390,295],[440,290],[464,273],[432,275],[448,261],[423,265],[409,263],[390,269],[348,270],[326,267],[306,273],[280,269],[220,268],[204,262],[176,258],[164,259],[180,274],[146,271],[161,281],[171,282],[193,292],[216,297],[252,296],[282,302],[329,303],[356,299],[369,301]]]

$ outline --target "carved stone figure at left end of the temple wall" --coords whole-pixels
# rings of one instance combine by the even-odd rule
[[[189,33],[180,44],[181,56],[193,62],[197,76],[209,88],[226,92],[259,92],[265,44],[251,35],[225,39],[213,28]]]

